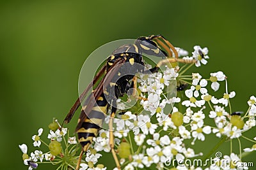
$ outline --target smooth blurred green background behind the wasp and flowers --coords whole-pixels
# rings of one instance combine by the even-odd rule
[[[18,145],[26,143],[30,153],[37,129],[47,130],[52,117],[63,120],[78,96],[84,60],[116,39],[162,34],[189,52],[207,46],[209,63],[199,71],[224,71],[228,89],[236,90],[233,110],[246,111],[256,91],[255,7],[256,1],[1,1],[1,169],[28,169]],[[210,149],[212,139],[200,148]],[[244,161],[256,166],[255,157]]]

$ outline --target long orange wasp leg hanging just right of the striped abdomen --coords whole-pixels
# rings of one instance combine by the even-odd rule
[[[110,119],[109,119],[109,146],[111,148],[113,158],[116,162],[117,169],[121,169],[120,164],[119,164],[119,160],[118,160],[118,158],[116,156],[116,152],[114,150],[115,141],[114,141],[114,134],[113,134],[113,119],[115,118],[115,113],[116,113],[116,108],[112,107],[111,116],[110,116]]]

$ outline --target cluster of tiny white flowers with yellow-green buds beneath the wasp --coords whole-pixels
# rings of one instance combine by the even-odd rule
[[[188,52],[182,48],[176,49],[179,56],[188,55]],[[239,138],[244,138],[254,143],[252,147],[244,148],[244,152],[256,150],[256,137],[250,139],[243,134],[256,125],[256,97],[251,96],[248,100],[249,108],[246,113],[232,112],[230,99],[234,98],[236,93],[228,92],[227,77],[222,71],[211,73],[208,78],[203,78],[199,73],[185,74],[193,65],[186,61],[193,61],[192,63],[199,67],[201,64],[206,64],[206,59],[209,59],[207,48],[195,46],[194,50],[191,57],[182,58],[182,61],[185,62],[183,66],[174,68],[166,66],[163,72],[138,74],[137,83],[141,101],[136,103],[136,108],[122,110],[120,114],[117,114],[118,118],[113,120],[115,150],[118,150],[117,155],[120,157],[119,162],[122,169],[248,169],[246,166],[239,166],[242,162],[242,154],[240,153],[240,157],[238,157],[238,154],[232,152],[232,139],[237,139],[240,143]],[[145,66],[152,67],[148,64]],[[177,88],[176,84],[173,87],[173,81],[177,81],[177,87],[180,87],[177,90],[179,97],[168,94],[170,89]],[[221,83],[225,83],[225,93],[223,96],[218,96],[216,91],[220,89]],[[176,90],[173,91],[176,92]],[[120,101],[120,99],[118,100]],[[122,104],[120,103],[119,109],[125,108],[122,107]],[[211,125],[207,123],[209,121],[212,122]],[[108,122],[109,118],[106,118],[106,123],[108,124]],[[42,131],[39,129],[38,135],[33,136],[34,146],[39,147],[41,143],[44,143],[40,139]],[[55,148],[54,151],[50,149],[51,152],[47,153],[36,150],[29,156],[27,146],[20,145],[24,164],[28,165],[29,169],[35,169],[38,166],[36,162],[42,162],[44,159],[61,162],[61,158],[65,154],[71,154],[68,157],[70,156],[70,161],[74,163],[77,155],[72,154],[76,154],[73,152],[74,150],[79,150],[76,148],[78,144],[75,137],[68,137],[67,140],[63,138],[66,134],[68,134],[67,128],[50,131],[47,138],[51,139]],[[187,167],[180,164],[166,166],[166,162],[173,159],[184,162],[203,154],[207,155],[204,153],[204,149],[200,153],[195,153],[195,150],[188,147],[188,144],[191,143],[193,146],[198,143],[198,140],[205,141],[209,134],[216,136],[218,141],[220,141],[219,138],[222,138],[221,141],[227,139],[230,141],[230,155],[225,155],[223,159],[215,158],[216,162],[229,160],[237,164],[230,164],[228,167],[220,163],[208,167]],[[98,160],[102,155],[111,151],[109,135],[108,129],[100,129],[98,136],[93,138],[93,145],[86,152],[85,159],[80,164],[80,170],[107,169],[102,164],[98,164]],[[60,142],[65,143],[68,152],[64,152],[63,149],[58,150]],[[124,143],[125,147],[122,148]],[[71,149],[68,149],[69,146]],[[242,148],[240,145],[239,147],[241,151]],[[49,146],[49,148],[51,147]],[[102,154],[103,152],[106,153]],[[60,159],[56,159],[57,155],[61,155]],[[67,168],[74,169],[72,163],[68,164]]]

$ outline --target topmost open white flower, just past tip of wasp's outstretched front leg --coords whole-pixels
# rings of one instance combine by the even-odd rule
[[[200,46],[196,45],[194,46],[194,52],[192,52],[193,54],[193,58],[196,60],[196,67],[199,67],[201,66],[200,62],[202,64],[207,64],[207,60],[206,59],[209,59],[209,56],[207,55],[208,53],[208,48],[205,47],[205,48],[201,48]]]

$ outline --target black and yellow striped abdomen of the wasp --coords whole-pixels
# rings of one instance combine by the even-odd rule
[[[84,108],[81,111],[78,122],[83,120]],[[92,144],[93,138],[97,136],[100,127],[102,126],[106,113],[108,111],[108,102],[102,93],[97,99],[90,113],[87,113],[87,117],[83,120],[83,123],[77,127],[78,141],[83,147],[83,150],[88,150],[89,146]]]

